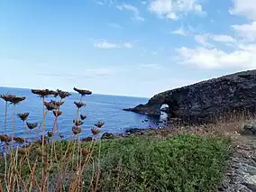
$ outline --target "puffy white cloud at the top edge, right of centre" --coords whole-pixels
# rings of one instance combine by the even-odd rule
[[[197,0],[153,0],[148,8],[151,13],[171,20],[178,19],[178,15],[183,13],[206,14],[203,11],[202,5],[197,3]]]

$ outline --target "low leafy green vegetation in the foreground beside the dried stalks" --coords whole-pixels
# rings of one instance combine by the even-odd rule
[[[82,143],[82,147],[89,144]],[[58,157],[67,146],[68,142],[56,142]],[[100,191],[215,191],[224,174],[229,146],[224,138],[193,134],[96,142],[94,161],[85,169],[84,185],[90,185],[99,162]],[[2,167],[4,162],[0,162]],[[28,171],[25,165],[23,170]],[[51,172],[54,175],[55,171]]]

